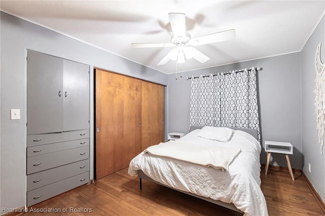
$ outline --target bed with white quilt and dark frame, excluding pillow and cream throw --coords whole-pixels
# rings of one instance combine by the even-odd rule
[[[140,189],[142,179],[145,179],[247,216],[268,215],[265,197],[260,187],[261,145],[256,140],[257,131],[249,128],[231,128],[229,142],[220,142],[201,137],[205,129],[205,127],[201,129],[202,127],[191,126],[190,133],[179,140],[160,143],[153,148],[167,146],[173,149],[178,148],[177,145],[180,147],[188,145],[194,148],[196,146],[201,149],[207,148],[209,151],[212,148],[216,150],[229,148],[231,151],[239,149],[239,153],[235,154],[227,166],[220,168],[218,164],[197,164],[183,158],[159,156],[144,151],[132,159],[128,174],[138,175]]]

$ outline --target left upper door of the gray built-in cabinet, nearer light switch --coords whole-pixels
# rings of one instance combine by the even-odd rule
[[[62,79],[62,59],[28,51],[28,135],[62,131],[62,100],[64,98]]]

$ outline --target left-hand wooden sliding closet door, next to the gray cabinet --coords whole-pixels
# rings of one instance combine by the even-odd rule
[[[128,166],[141,151],[141,80],[95,70],[96,179]]]

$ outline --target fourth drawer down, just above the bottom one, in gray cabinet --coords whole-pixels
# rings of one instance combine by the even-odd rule
[[[27,176],[27,191],[31,191],[54,182],[68,179],[89,171],[89,160],[81,160],[67,165],[36,172]]]

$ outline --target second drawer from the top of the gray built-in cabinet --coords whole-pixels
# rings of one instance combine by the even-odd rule
[[[78,148],[82,146],[89,146],[89,139],[73,140],[68,142],[46,144],[40,146],[32,146],[27,148],[27,157],[47,154],[56,151]]]

